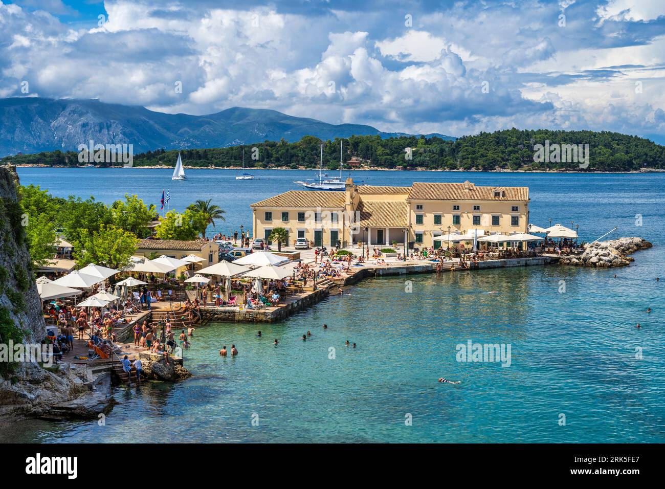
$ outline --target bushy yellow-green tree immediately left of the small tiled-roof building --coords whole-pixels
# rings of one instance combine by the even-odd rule
[[[74,251],[74,259],[79,268],[95,263],[119,269],[130,263],[130,257],[137,247],[135,234],[109,224],[81,236],[80,247]]]

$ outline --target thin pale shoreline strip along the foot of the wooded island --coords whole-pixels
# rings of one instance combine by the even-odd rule
[[[11,163],[10,163],[11,164]],[[102,165],[82,165],[82,166],[68,166],[68,165],[45,165],[45,164],[17,164],[13,165],[17,168],[114,168],[121,169],[123,166],[102,166]],[[150,169],[150,170],[173,170],[173,166],[168,165],[143,165],[143,166],[132,166],[134,169]],[[240,166],[187,166],[184,168],[186,170],[242,170]],[[318,168],[308,168],[307,166],[299,166],[298,168],[289,168],[288,166],[275,166],[273,168],[245,168],[245,171],[251,170],[252,172],[259,172],[265,170],[313,170],[316,171]],[[327,172],[335,172],[337,170],[326,170]],[[364,166],[362,168],[354,168],[353,170],[344,169],[344,172],[354,172],[354,171],[371,171],[371,172],[493,172],[493,173],[611,173],[611,174],[623,174],[623,173],[662,173],[665,172],[665,169],[660,168],[642,168],[638,170],[626,170],[623,172],[620,171],[606,171],[606,170],[507,170],[505,168],[497,168],[495,170],[476,170],[471,168],[470,170],[464,170],[462,168],[455,168],[454,170],[449,170],[448,168],[409,168],[408,170],[402,170],[401,168],[381,168],[377,166]]]

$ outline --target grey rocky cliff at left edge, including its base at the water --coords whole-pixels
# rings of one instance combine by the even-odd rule
[[[39,343],[46,332],[17,184],[16,172],[0,166],[0,348],[9,341]],[[89,390],[86,381],[84,371],[69,365],[43,369],[37,363],[0,359],[0,422],[39,416],[53,405],[72,401]]]

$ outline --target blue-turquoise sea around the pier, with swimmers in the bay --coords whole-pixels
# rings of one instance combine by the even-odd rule
[[[116,172],[138,173],[122,178]],[[19,169],[23,184],[106,202],[125,191],[161,194],[156,172],[170,175]],[[251,182],[251,190],[233,172],[188,173],[190,193],[176,207],[212,197],[229,212],[228,225],[239,226],[249,222],[247,204],[296,188],[289,182],[307,172],[265,172],[265,178],[255,172],[262,180]],[[368,279],[350,287],[351,295],[330,297],[283,323],[201,327],[185,354],[194,378],[116,388],[120,405],[104,426],[31,420],[1,429],[0,440],[665,442],[665,176],[356,175],[372,184],[527,185],[535,224],[574,220],[585,240],[620,226],[614,236],[643,236],[655,246],[616,270],[550,266]],[[313,336],[303,342],[307,330]],[[358,347],[345,347],[346,339]],[[468,340],[510,345],[510,367],[457,361],[456,345]],[[231,343],[239,356],[221,359],[221,345]],[[462,383],[437,383],[442,376]]]

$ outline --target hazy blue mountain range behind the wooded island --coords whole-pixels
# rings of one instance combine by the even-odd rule
[[[328,124],[276,110],[233,107],[215,114],[166,114],[99,100],[16,97],[0,100],[0,156],[73,151],[79,144],[133,144],[134,152],[158,148],[223,148],[265,140],[289,142],[306,135],[323,140],[381,132],[362,124]],[[443,134],[426,134],[454,140]]]

